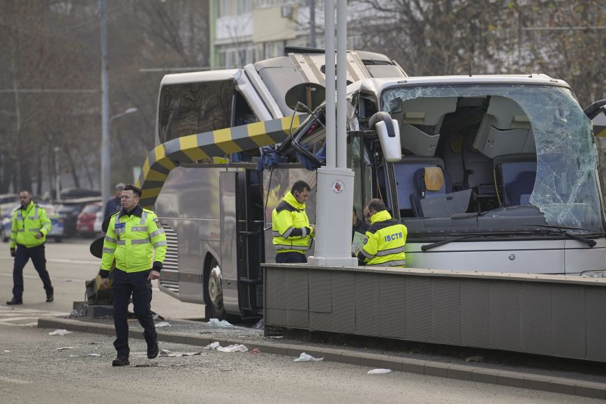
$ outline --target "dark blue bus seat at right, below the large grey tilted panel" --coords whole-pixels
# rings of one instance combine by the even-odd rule
[[[529,204],[536,170],[536,154],[508,154],[494,158],[494,186],[497,195],[503,195],[502,206]]]

